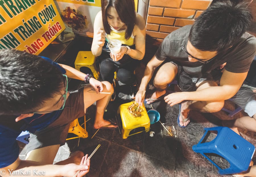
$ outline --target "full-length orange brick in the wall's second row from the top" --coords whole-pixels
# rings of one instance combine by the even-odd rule
[[[188,18],[189,16],[191,15],[193,16],[194,14],[195,14],[195,10],[173,9],[173,8],[164,9],[164,16]]]

